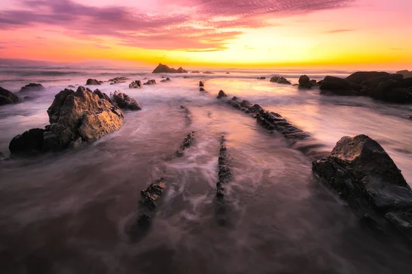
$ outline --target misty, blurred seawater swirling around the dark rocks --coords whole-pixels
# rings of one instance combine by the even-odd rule
[[[87,78],[126,76],[90,86],[126,92],[141,104],[124,126],[78,151],[0,162],[0,273],[408,273],[411,250],[360,225],[345,203],[313,177],[311,160],[269,134],[251,116],[218,101],[219,90],[277,112],[332,150],[342,136],[377,140],[412,183],[412,108],[363,97],[322,97],[293,84],[347,71],[240,71],[152,75],[149,69],[0,68],[0,86],[30,82],[45,91],[0,108],[0,151],[10,140],[48,124],[54,95]],[[229,71],[230,75],[225,75]],[[171,82],[159,83],[161,77]],[[183,76],[188,76],[184,79]],[[266,80],[256,77],[266,76]],[[129,89],[132,80],[157,85]],[[199,92],[205,82],[208,93]],[[28,94],[27,94],[28,95]],[[181,109],[190,110],[187,116]],[[168,160],[186,134],[194,144]],[[220,137],[233,180],[229,224],[216,222],[214,196]],[[165,192],[143,238],[125,227],[139,213],[140,190],[165,177]]]

